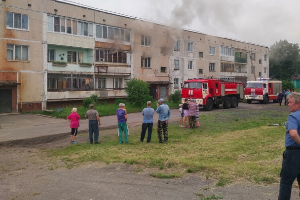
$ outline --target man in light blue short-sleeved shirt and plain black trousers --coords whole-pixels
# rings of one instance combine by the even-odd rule
[[[146,130],[148,129],[147,143],[149,143],[151,141],[152,128],[153,128],[153,115],[154,115],[154,109],[151,108],[151,101],[147,101],[147,108],[143,109],[142,115],[144,117],[143,117],[140,142],[144,141]]]

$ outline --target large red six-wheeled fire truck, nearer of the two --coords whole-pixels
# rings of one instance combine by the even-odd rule
[[[195,99],[205,111],[211,111],[220,104],[223,104],[224,108],[235,108],[238,106],[238,100],[243,99],[243,94],[242,83],[202,78],[185,81],[181,91],[183,103],[185,99]]]

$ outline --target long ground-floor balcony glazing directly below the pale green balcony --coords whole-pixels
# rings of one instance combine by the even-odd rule
[[[48,91],[71,90],[71,89],[93,89],[93,75],[71,74],[71,73],[48,73]]]

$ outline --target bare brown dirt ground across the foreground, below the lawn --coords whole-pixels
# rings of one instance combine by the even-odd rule
[[[106,130],[105,134],[116,134],[116,130]],[[79,142],[87,139],[87,133],[77,137]],[[200,200],[201,195],[219,195],[224,200],[275,200],[278,196],[278,185],[241,182],[217,188],[214,180],[194,174],[178,179],[153,178],[149,171],[135,172],[134,165],[87,163],[67,169],[62,167],[64,163],[50,160],[43,150],[68,146],[69,140],[69,134],[56,134],[0,142],[0,199]],[[298,190],[293,189],[292,199],[299,199]]]

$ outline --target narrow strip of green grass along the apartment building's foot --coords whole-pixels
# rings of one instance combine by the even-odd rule
[[[157,101],[152,102],[151,107],[154,108],[154,109],[156,109],[156,102]],[[145,104],[145,106],[142,106],[142,107],[133,107],[129,102],[124,102],[124,103],[126,105],[127,113],[142,112],[142,110],[145,107],[147,107],[146,104]],[[178,108],[178,105],[181,102],[166,101],[166,103],[172,109],[172,108]],[[88,111],[88,108],[85,108],[83,106],[75,106],[75,105],[70,106],[70,107],[64,107],[64,108],[61,108],[61,109],[57,109],[57,108],[49,109],[49,110],[53,110],[53,112],[43,111],[43,110],[36,110],[36,111],[22,112],[22,113],[23,114],[28,114],[28,113],[41,114],[41,115],[47,115],[47,116],[52,116],[52,117],[56,117],[56,118],[65,119],[71,113],[73,107],[77,108],[77,113],[80,115],[81,119],[84,119],[85,118],[85,113],[86,113],[86,111]],[[95,105],[95,109],[98,111],[100,117],[115,115],[115,112],[116,112],[117,108],[118,108],[118,105],[115,104],[115,103],[108,104],[106,102],[103,102],[101,104],[96,104]]]

